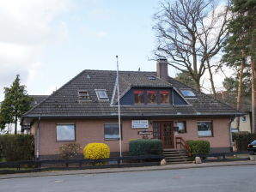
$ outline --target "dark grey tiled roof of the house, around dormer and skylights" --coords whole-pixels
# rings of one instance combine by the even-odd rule
[[[173,78],[163,81],[155,72],[120,71],[120,94],[131,87],[175,87],[191,88]],[[117,106],[111,106],[111,97],[116,81],[116,71],[84,70],[60,87],[55,93],[34,106],[23,117],[117,117]],[[98,100],[94,89],[106,89],[109,100]],[[192,89],[192,88],[191,88]],[[79,101],[78,90],[87,90],[89,99]],[[241,114],[210,96],[194,89],[196,99],[187,99],[191,105],[125,105],[122,117],[192,117],[192,116],[235,116]]]

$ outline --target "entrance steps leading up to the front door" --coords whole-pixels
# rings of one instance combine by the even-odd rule
[[[163,153],[167,164],[188,164],[192,160],[187,156],[186,151],[182,149],[168,148],[163,149]]]

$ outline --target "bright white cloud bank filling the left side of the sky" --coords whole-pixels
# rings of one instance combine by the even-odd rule
[[[70,7],[70,0],[0,0],[0,99],[16,74],[23,82],[38,75],[46,43],[68,38],[64,21],[58,30],[52,21]]]

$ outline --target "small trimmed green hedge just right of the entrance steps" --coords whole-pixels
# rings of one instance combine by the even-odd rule
[[[209,141],[186,141],[187,145],[191,148],[192,156],[196,154],[207,154],[210,152],[210,142]]]

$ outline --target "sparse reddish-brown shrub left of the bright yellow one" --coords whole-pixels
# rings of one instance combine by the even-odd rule
[[[80,150],[81,150],[81,146],[79,144],[66,143],[61,147],[59,147],[59,154],[63,159],[73,159],[73,158],[76,158]]]

